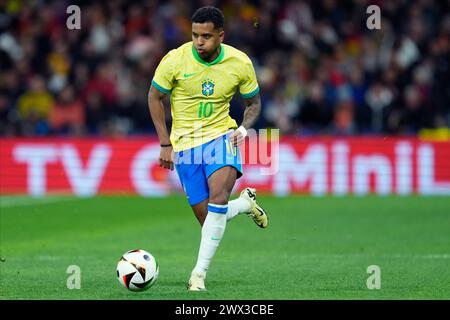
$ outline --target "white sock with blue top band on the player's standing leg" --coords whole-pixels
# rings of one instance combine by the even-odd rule
[[[208,203],[208,215],[202,227],[202,239],[194,272],[206,274],[227,225],[228,205]]]

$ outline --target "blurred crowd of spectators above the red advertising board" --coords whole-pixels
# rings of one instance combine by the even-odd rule
[[[81,8],[80,30],[66,26],[71,4]],[[371,4],[380,30],[367,28]],[[0,0],[0,135],[154,132],[154,70],[191,40],[190,17],[204,5],[224,12],[225,43],[254,63],[257,128],[352,135],[450,126],[447,0]],[[242,114],[237,95],[231,115]]]

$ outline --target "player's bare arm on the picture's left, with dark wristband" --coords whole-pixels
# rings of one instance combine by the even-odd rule
[[[165,93],[158,91],[151,86],[148,92],[148,108],[152,117],[153,124],[158,134],[160,145],[170,145],[169,131],[166,125],[166,115],[164,112],[163,99],[166,97]],[[161,147],[159,152],[159,166],[173,170],[173,148],[172,146]]]

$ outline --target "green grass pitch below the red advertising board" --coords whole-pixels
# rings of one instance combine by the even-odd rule
[[[269,227],[228,225],[207,292],[187,292],[200,227],[182,196],[0,198],[0,299],[450,299],[450,198],[259,196]],[[158,260],[148,291],[116,279],[141,248]],[[81,289],[66,286],[68,266]],[[369,290],[367,267],[381,270]]]

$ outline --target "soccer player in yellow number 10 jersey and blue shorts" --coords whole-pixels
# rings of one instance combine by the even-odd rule
[[[160,166],[177,170],[183,189],[200,222],[201,241],[188,290],[203,291],[211,260],[227,221],[246,213],[261,228],[267,215],[256,203],[256,191],[245,188],[230,201],[242,176],[239,146],[261,109],[259,87],[248,56],[223,44],[224,16],[203,7],[192,16],[192,41],[171,50],[153,77],[148,104],[161,144]],[[237,89],[245,102],[242,124],[229,115]],[[170,94],[172,129],[165,124],[162,100]]]

